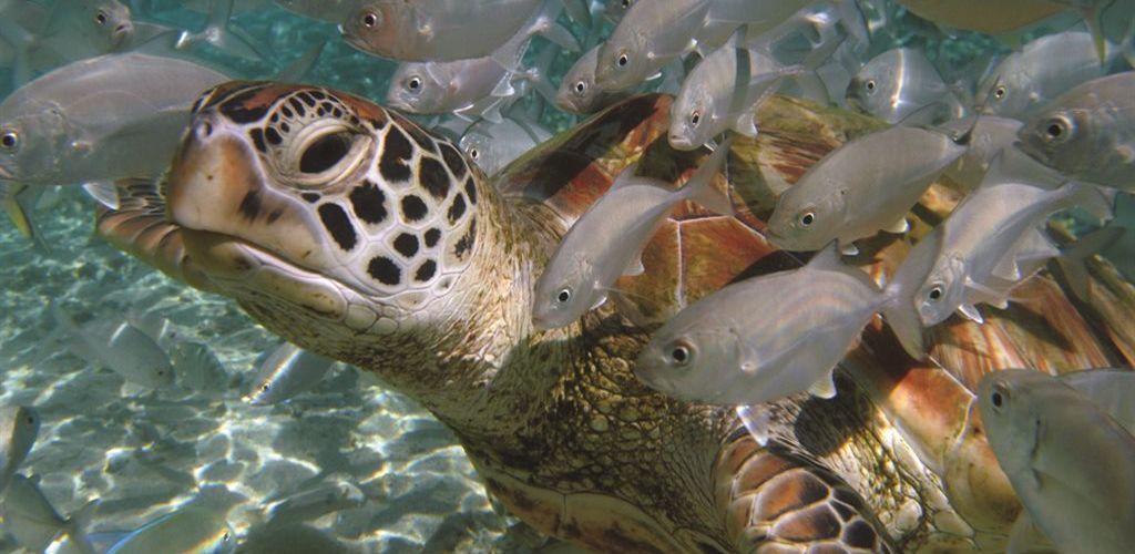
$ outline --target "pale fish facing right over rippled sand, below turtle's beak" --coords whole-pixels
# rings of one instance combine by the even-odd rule
[[[109,329],[100,325],[79,327],[58,305],[52,307],[57,324],[75,338],[68,344],[77,355],[98,361],[124,379],[144,387],[163,388],[174,384],[169,356],[149,335],[123,321]]]

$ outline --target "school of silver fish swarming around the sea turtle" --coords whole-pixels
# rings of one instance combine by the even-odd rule
[[[877,131],[847,141],[781,192],[767,218],[767,241],[810,261],[687,307],[638,358],[634,372],[647,386],[735,405],[757,436],[759,404],[838,394],[833,372],[876,314],[922,358],[927,329],[952,317],[983,321],[983,304],[1015,302],[1017,286],[1049,260],[1084,293],[1084,260],[1123,234],[1109,221],[1117,198],[1135,193],[1129,0],[182,2],[203,17],[199,28],[153,17],[150,3],[0,2],[0,67],[11,85],[0,101],[0,202],[40,247],[49,247],[34,224],[44,191],[81,185],[115,208],[115,181],[169,167],[202,91],[318,70],[322,47],[285,62],[233,24],[235,14],[272,5],[338,25],[344,44],[397,64],[384,103],[453,137],[487,175],[549,140],[552,121],[638,92],[674,95],[670,146],[713,153],[676,190],[637,176],[636,165],[617,176],[535,283],[531,320],[541,330],[574,325],[620,294],[617,279],[645,270],[640,253],[678,203],[733,213],[730,195],[711,184],[729,183],[733,136],[760,133],[756,114],[772,94],[877,118]],[[943,35],[970,30],[1007,47],[952,66],[942,51],[894,34],[889,24],[907,10]],[[857,243],[901,237],[908,211],[942,176],[965,198],[893,275],[876,282],[843,261],[859,255]],[[1061,250],[1045,224],[1068,210],[1098,230]],[[208,345],[169,336],[161,321],[90,309],[79,322],[72,309],[50,307],[53,339],[133,394],[209,394],[233,380]],[[244,400],[286,403],[334,367],[283,343],[261,356]],[[977,402],[1025,506],[1010,551],[1118,553],[1135,544],[1130,370],[993,372]],[[192,504],[125,530],[89,529],[98,501],[61,515],[37,478],[19,473],[39,426],[34,406],[0,406],[3,529],[23,547],[42,552],[61,537],[84,553],[236,547],[224,513]],[[333,487],[268,513],[285,526],[364,502],[356,488]]]

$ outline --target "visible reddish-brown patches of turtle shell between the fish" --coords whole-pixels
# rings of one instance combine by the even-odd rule
[[[612,107],[518,159],[496,185],[543,202],[565,226],[630,163],[638,162],[637,174],[676,187],[707,152],[670,148],[670,96],[647,95]],[[645,249],[646,271],[617,284],[617,309],[625,316],[661,324],[729,283],[799,267],[801,254],[779,251],[763,235],[775,198],[825,153],[883,125],[782,96],[768,101],[758,120],[759,135],[733,142],[715,183],[729,191],[737,213],[679,205]],[[859,241],[860,253],[844,261],[883,280],[960,199],[949,181],[935,183],[908,215],[906,236]],[[1050,227],[1070,238],[1060,224]],[[925,361],[910,359],[876,317],[842,363],[942,477],[951,504],[978,534],[1002,536],[1020,510],[984,439],[973,394],[981,377],[1007,368],[1060,373],[1135,362],[1135,325],[1124,316],[1135,309],[1135,287],[1104,260],[1092,260],[1090,272],[1091,295],[1083,301],[1069,294],[1059,272],[1042,271],[1015,289],[1017,301],[1007,310],[983,307],[984,325],[953,317],[934,327]]]

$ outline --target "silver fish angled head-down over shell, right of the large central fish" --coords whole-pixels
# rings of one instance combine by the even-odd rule
[[[994,167],[991,174],[995,173]],[[908,260],[935,260],[934,269],[919,285],[908,286],[915,291],[913,302],[923,325],[938,325],[955,310],[981,322],[977,303],[1003,307],[1007,291],[994,283],[1012,285],[1027,277],[1019,267],[1018,251],[1027,245],[1022,238],[1050,215],[1073,205],[1081,205],[1101,219],[1110,210],[1091,185],[1068,183],[1057,190],[1045,190],[991,175],[907,255]],[[1028,250],[1034,251],[1028,257],[1032,259],[1059,254],[1051,245],[1044,249],[1046,252],[1036,252],[1035,246]],[[917,278],[905,274],[900,267],[894,280]]]

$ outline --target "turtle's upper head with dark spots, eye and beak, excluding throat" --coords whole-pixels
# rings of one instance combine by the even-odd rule
[[[193,111],[170,177],[183,227],[409,310],[468,266],[482,176],[448,141],[314,86],[227,83]]]

